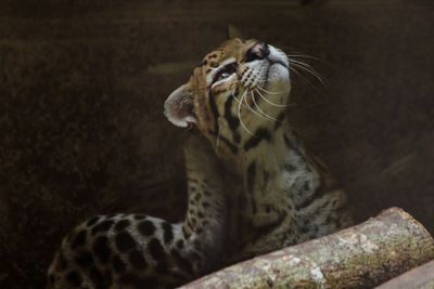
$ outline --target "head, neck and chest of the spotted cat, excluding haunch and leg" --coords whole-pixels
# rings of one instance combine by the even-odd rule
[[[225,166],[225,264],[352,224],[345,193],[286,120],[297,66],[272,45],[232,39],[166,101],[168,119],[197,127]]]

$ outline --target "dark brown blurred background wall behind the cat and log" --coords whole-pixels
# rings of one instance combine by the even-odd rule
[[[358,221],[398,206],[434,233],[432,1],[0,3],[0,287],[42,288],[62,236],[97,213],[182,215],[182,140],[163,103],[226,39],[320,61],[295,127]]]

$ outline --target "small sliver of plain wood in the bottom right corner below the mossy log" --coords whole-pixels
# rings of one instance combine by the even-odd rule
[[[434,288],[434,261],[416,267],[379,286],[375,289],[432,289]]]

